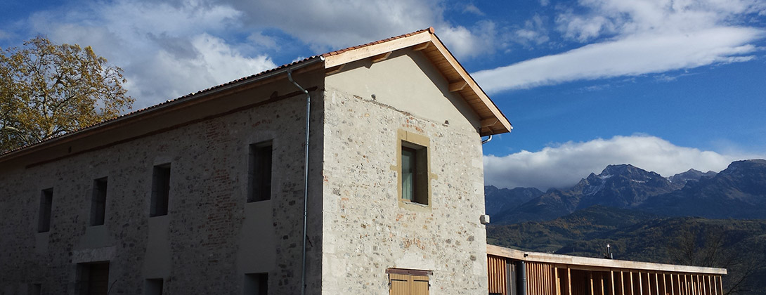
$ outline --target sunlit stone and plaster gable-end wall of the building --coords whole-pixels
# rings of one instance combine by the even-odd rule
[[[388,268],[433,270],[431,294],[486,293],[476,116],[418,52],[346,67],[326,78],[322,293],[388,293]],[[402,132],[428,140],[428,206],[400,205]]]

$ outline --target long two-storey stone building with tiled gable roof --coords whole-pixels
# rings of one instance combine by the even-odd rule
[[[433,29],[128,113],[0,155],[0,292],[486,293],[510,129]]]

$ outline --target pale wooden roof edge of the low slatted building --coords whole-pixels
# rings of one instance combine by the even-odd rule
[[[486,254],[511,258],[517,261],[557,264],[583,270],[644,270],[686,274],[726,274],[725,268],[691,267],[677,264],[655,264],[652,262],[620,261],[614,259],[548,254],[520,251],[490,244],[486,245]]]

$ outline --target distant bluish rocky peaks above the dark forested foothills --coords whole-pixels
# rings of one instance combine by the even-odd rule
[[[593,205],[655,215],[766,219],[766,160],[732,162],[719,173],[694,169],[668,178],[630,164],[607,166],[571,188],[485,188],[493,224],[547,221]]]

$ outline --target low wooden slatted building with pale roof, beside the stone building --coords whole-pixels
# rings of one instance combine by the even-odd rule
[[[519,251],[487,245],[489,294],[722,295],[726,270]]]

